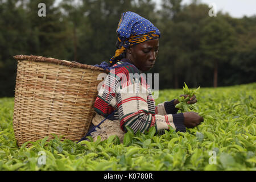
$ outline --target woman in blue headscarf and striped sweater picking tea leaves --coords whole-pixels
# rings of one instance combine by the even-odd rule
[[[98,135],[101,140],[117,135],[122,141],[123,134],[127,132],[126,126],[133,129],[134,133],[143,133],[155,127],[158,134],[163,134],[169,127],[185,132],[185,127],[199,125],[203,118],[198,114],[177,114],[177,100],[155,106],[146,78],[133,77],[133,74],[140,75],[154,66],[159,48],[158,28],[142,16],[128,11],[121,15],[117,34],[118,49],[109,65],[114,69],[110,69],[96,98],[94,110],[97,114],[93,118],[93,125],[98,125],[106,117],[110,118],[101,123],[100,129],[91,133],[93,139],[96,140]],[[197,100],[193,96],[188,104],[195,102]]]

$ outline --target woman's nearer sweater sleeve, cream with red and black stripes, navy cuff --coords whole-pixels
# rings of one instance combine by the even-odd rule
[[[120,126],[123,131],[126,132],[125,126],[133,129],[134,133],[137,131],[144,133],[153,126],[156,127],[158,133],[168,130],[169,127],[176,131],[185,131],[182,113],[164,115],[155,113],[155,102],[153,106],[152,102],[149,101],[152,101],[152,95],[148,86],[145,82],[143,83],[143,79],[128,78],[119,85],[115,98],[121,120]],[[151,107],[154,107],[154,110]]]

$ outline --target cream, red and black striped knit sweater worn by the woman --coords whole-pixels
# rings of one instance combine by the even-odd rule
[[[113,67],[125,62],[129,60],[122,59]],[[158,134],[163,134],[169,127],[185,131],[183,114],[176,114],[174,100],[155,106],[150,85],[141,73],[133,64],[110,69],[98,92],[94,110],[104,117],[114,111],[110,120],[120,120],[120,127],[125,132],[125,126],[133,129],[134,133],[143,133],[153,126]]]

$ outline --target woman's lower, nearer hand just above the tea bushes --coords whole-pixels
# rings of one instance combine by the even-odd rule
[[[183,116],[184,116],[184,125],[188,129],[196,127],[200,125],[201,122],[204,121],[204,118],[200,117],[200,115],[198,115],[195,112],[186,112],[186,113],[183,113]]]

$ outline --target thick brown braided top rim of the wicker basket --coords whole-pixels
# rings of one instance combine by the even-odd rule
[[[102,69],[99,67],[95,67],[93,65],[87,65],[87,64],[82,64],[82,63],[77,63],[75,61],[67,61],[67,60],[59,60],[59,59],[54,59],[52,57],[43,57],[43,56],[35,56],[35,55],[16,55],[13,56],[17,61],[23,61],[23,60],[28,60],[28,61],[35,61],[35,62],[46,62],[46,63],[53,63],[53,64],[59,64],[59,65],[65,65],[67,67],[72,67],[72,68],[82,68],[82,69],[93,69],[97,71],[103,71],[105,73],[109,73],[109,69]]]

